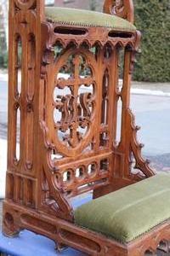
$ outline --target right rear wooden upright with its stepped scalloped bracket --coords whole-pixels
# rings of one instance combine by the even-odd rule
[[[149,161],[144,160],[141,154],[141,149],[144,147],[142,143],[137,140],[137,131],[139,126],[135,125],[134,115],[130,109],[130,89],[133,73],[133,64],[135,60],[135,53],[139,48],[140,33],[136,34],[136,47],[131,49],[127,47],[124,55],[124,73],[123,73],[123,85],[122,85],[122,131],[121,142],[116,149],[118,154],[122,156],[122,178],[139,180],[144,177],[150,177],[155,173],[150,169]],[[134,163],[132,162],[134,161]],[[138,170],[133,175],[132,164],[134,169]],[[119,173],[119,174],[120,174]]]

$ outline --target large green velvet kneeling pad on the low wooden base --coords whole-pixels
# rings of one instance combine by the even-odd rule
[[[127,243],[170,218],[170,174],[162,173],[90,201],[75,223]]]

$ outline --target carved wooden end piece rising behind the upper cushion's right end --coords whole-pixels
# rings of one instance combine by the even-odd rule
[[[103,10],[133,23],[133,0],[105,0]]]

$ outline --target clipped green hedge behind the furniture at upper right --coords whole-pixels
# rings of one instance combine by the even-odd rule
[[[133,0],[135,25],[142,32],[142,53],[133,79],[170,81],[170,0]]]

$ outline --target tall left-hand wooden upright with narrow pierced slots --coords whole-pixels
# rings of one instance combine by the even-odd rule
[[[40,0],[9,1],[6,200],[31,208],[37,207],[37,131],[43,9],[44,3]],[[12,216],[4,214],[3,232],[13,236],[18,229],[8,225]]]

